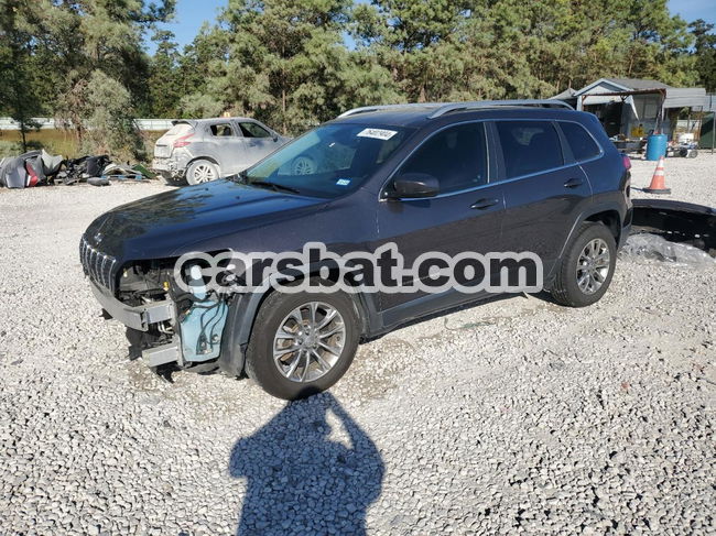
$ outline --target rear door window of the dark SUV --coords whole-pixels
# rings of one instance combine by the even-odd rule
[[[507,178],[564,164],[560,136],[549,121],[497,121]]]

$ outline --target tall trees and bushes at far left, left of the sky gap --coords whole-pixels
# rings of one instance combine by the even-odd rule
[[[0,111],[53,114],[88,151],[111,143],[113,154],[140,157],[131,118],[150,100],[142,40],[174,3],[0,0],[0,34],[10,37],[0,41]]]

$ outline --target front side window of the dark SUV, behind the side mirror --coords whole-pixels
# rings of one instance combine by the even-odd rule
[[[399,174],[426,173],[440,182],[441,194],[487,183],[487,146],[482,123],[458,124],[427,140]]]

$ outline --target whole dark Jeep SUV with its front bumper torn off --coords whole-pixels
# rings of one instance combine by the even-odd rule
[[[560,101],[366,107],[238,176],[102,215],[80,256],[105,316],[127,325],[151,367],[246,372],[296,398],[333,385],[360,340],[489,294],[223,294],[204,278],[187,292],[177,259],[307,242],[337,254],[392,243],[406,263],[528,251],[541,260],[541,286],[579,307],[609,286],[631,222],[629,185],[628,160],[596,117]],[[325,277],[315,270],[305,276]]]

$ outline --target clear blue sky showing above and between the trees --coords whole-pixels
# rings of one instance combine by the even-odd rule
[[[174,21],[163,28],[174,32],[180,47],[183,47],[194,40],[205,21],[214,22],[219,9],[226,3],[227,0],[178,0]],[[704,19],[716,23],[716,0],[669,0],[669,9],[690,22]],[[154,43],[149,39],[147,48],[150,54],[154,53]]]

